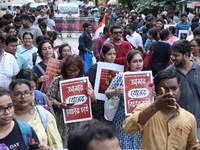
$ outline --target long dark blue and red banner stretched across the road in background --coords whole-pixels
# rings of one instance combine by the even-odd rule
[[[98,27],[98,23],[95,18],[89,17],[71,17],[71,18],[55,18],[57,30],[61,33],[83,33],[82,25],[85,22],[89,22],[92,25],[92,33],[94,33]]]

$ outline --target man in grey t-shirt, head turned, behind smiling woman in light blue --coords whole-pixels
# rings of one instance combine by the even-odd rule
[[[22,21],[22,25],[23,26],[20,28],[17,37],[20,40],[23,40],[23,34],[25,32],[31,32],[33,34],[33,38],[34,38],[33,45],[36,46],[35,39],[38,36],[42,35],[42,32],[41,32],[40,28],[33,25],[33,20],[29,15],[26,15],[26,14],[23,15],[21,17],[21,21]]]

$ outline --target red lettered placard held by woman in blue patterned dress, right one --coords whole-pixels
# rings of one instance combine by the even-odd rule
[[[153,101],[152,72],[126,72],[123,74],[125,115],[130,116],[138,105]]]

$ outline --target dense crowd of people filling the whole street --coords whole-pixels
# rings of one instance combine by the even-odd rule
[[[62,14],[53,14],[51,7],[9,6],[0,19],[0,143],[10,150],[200,149],[200,14],[159,9],[155,17],[137,8],[80,6],[81,17],[99,18],[99,23],[105,19],[106,25],[93,39],[92,24],[84,22],[79,54],[73,54],[72,45],[55,43],[59,32],[54,17]],[[179,36],[182,30],[190,35]],[[151,52],[152,65],[146,68]],[[86,53],[96,59],[87,72]],[[60,75],[42,92],[51,58],[61,62]],[[98,62],[124,67],[104,93],[108,99],[119,97],[112,121],[105,119],[104,101],[94,92]],[[154,101],[127,117],[123,73],[144,70],[152,70]],[[73,104],[61,100],[59,83],[83,76],[90,82],[85,90],[93,121],[65,124],[63,110]]]

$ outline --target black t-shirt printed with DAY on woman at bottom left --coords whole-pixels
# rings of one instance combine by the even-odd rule
[[[27,148],[23,141],[20,128],[15,120],[14,122],[15,125],[12,131],[5,138],[0,139],[0,143],[4,143],[10,150],[25,150]],[[33,129],[32,129],[32,138],[35,139],[35,142],[39,143],[38,137]],[[39,149],[38,145],[29,147],[29,150],[37,150],[37,149]]]

